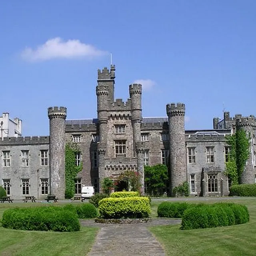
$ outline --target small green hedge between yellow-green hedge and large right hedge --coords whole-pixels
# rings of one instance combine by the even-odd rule
[[[191,204],[162,202],[157,208],[158,217],[164,218],[181,218],[184,211],[190,207]]]

